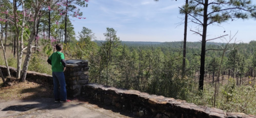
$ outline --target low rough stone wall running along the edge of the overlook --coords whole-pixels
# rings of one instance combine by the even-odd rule
[[[84,66],[86,64],[84,63]],[[69,66],[71,67],[71,66]],[[75,66],[78,67],[78,66]],[[81,66],[82,67],[82,66]],[[0,66],[3,75],[7,75],[7,69],[5,66]],[[72,70],[69,69],[70,75],[76,76],[76,79],[71,83],[77,83],[79,78],[85,80],[83,77],[87,76],[87,69]],[[86,73],[76,71],[83,71]],[[10,67],[10,72],[12,76],[15,76],[16,69]],[[73,74],[71,74],[73,73]],[[83,74],[82,74],[83,73]],[[27,80],[35,81],[39,84],[52,84],[52,76],[46,74],[40,74],[34,71],[28,71]],[[76,80],[76,81],[75,81]],[[67,81],[67,80],[66,80]],[[68,81],[67,83],[69,83]],[[249,118],[254,117],[254,115],[246,115],[244,113],[231,113],[224,112],[217,108],[210,108],[206,106],[198,106],[193,103],[187,103],[186,101],[181,101],[179,99],[167,98],[164,96],[149,95],[148,93],[142,93],[138,90],[126,90],[121,88],[103,86],[99,84],[78,84],[82,85],[81,93],[82,97],[91,99],[95,102],[100,102],[105,105],[115,106],[123,111],[133,113],[140,117],[157,117],[157,118],[186,118],[186,117],[227,117],[227,118]],[[68,89],[68,87],[67,87]],[[76,90],[76,89],[74,89]]]

